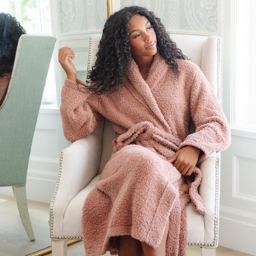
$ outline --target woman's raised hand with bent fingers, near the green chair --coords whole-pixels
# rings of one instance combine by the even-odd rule
[[[76,57],[71,47],[62,47],[58,52],[58,61],[67,74],[67,78],[76,82],[76,67],[71,61]]]

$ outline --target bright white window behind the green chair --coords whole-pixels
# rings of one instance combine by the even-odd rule
[[[28,34],[52,35],[49,0],[5,0],[1,12],[16,17]],[[50,63],[42,104],[56,104],[55,70]]]

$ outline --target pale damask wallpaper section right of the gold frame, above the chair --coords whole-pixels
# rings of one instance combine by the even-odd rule
[[[132,5],[153,11],[167,30],[217,32],[217,0],[121,0]]]

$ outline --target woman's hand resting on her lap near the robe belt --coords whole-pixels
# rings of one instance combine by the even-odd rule
[[[201,149],[194,146],[185,146],[177,151],[171,158],[170,163],[185,176],[190,176],[198,162]]]

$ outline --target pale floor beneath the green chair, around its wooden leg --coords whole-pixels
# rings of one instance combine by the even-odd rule
[[[35,241],[30,241],[20,221],[13,196],[0,194],[0,255],[25,256],[49,247],[49,204],[28,200]]]

